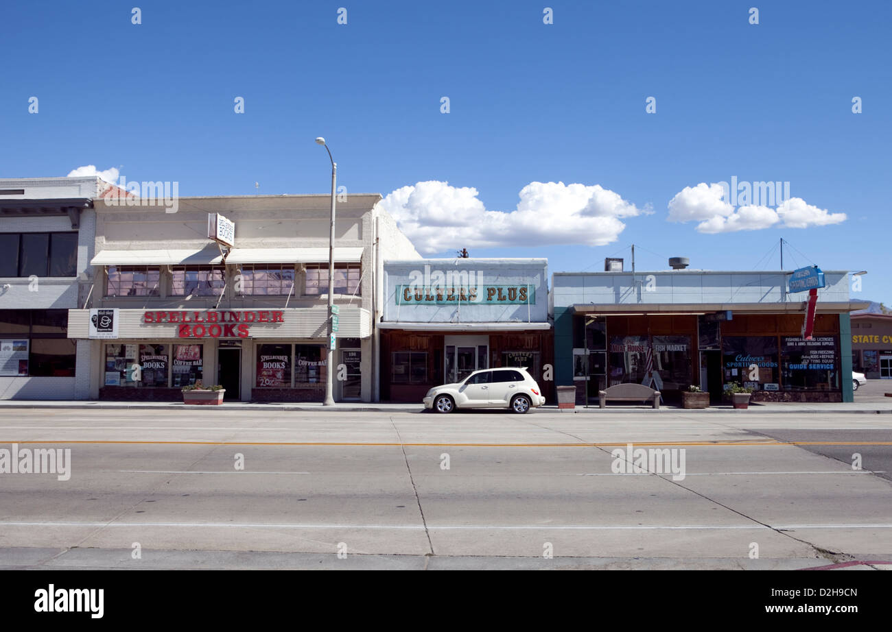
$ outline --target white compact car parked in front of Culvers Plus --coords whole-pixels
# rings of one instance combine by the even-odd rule
[[[545,398],[539,384],[525,368],[483,369],[463,382],[435,386],[427,391],[425,408],[451,413],[456,408],[510,408],[524,414],[542,406]]]

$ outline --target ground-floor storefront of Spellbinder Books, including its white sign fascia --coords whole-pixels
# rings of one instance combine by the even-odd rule
[[[325,314],[325,308],[71,310],[69,335],[91,340],[95,398],[178,401],[184,386],[202,382],[222,385],[229,401],[321,402]],[[349,399],[359,397],[360,336],[368,339],[368,325],[360,326],[361,308],[344,307],[342,315],[335,353],[346,375],[335,382],[335,398]]]

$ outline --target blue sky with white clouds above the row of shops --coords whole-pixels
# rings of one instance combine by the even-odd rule
[[[0,176],[95,165],[181,195],[326,193],[324,135],[348,192],[402,190],[388,208],[432,256],[597,270],[635,243],[639,269],[777,268],[783,237],[785,267],[869,270],[853,298],[892,303],[890,19],[857,1],[7,4]],[[698,231],[739,210],[706,199],[731,176],[789,182],[818,221],[762,209],[740,218],[756,229]],[[584,187],[531,185],[549,182]],[[697,218],[667,221],[700,183],[680,200]]]

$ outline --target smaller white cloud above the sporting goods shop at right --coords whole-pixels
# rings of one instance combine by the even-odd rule
[[[734,209],[723,200],[722,185],[686,186],[669,201],[670,222],[698,221],[699,233],[733,233],[741,230],[761,230],[772,226],[807,228],[828,226],[846,221],[845,213],[830,213],[807,204],[802,198],[789,198],[776,209],[761,205],[746,205]]]

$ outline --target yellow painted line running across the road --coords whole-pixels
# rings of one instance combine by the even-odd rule
[[[0,444],[95,444],[151,446],[292,446],[292,447],[791,447],[791,446],[892,446],[892,441],[619,441],[607,443],[393,443],[354,441],[136,441],[136,440],[25,440]]]

